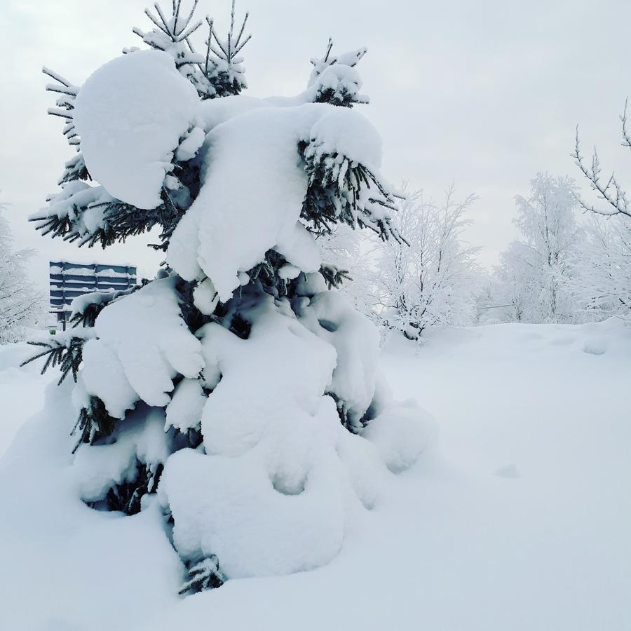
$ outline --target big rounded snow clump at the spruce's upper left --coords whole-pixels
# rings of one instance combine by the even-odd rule
[[[83,84],[74,108],[90,175],[111,196],[156,208],[197,103],[166,53],[140,50],[107,62]]]

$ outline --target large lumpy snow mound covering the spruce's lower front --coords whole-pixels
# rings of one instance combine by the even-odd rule
[[[387,429],[361,437],[341,425],[326,393],[348,393],[353,411],[366,411],[375,390],[376,332],[363,340],[369,351],[362,357],[353,344],[307,330],[283,301],[257,298],[247,314],[247,339],[216,323],[198,332],[204,377],[215,383],[220,376],[201,416],[206,454],[184,449],[171,456],[158,490],[175,522],[179,554],[191,561],[217,555],[230,578],[290,574],[329,562],[349,519],[376,501],[384,475],[379,454],[391,470],[402,470],[430,438],[422,424],[414,428],[419,410],[413,407],[405,418],[392,409],[372,421],[379,428],[393,421],[391,431],[403,430],[398,439]],[[316,296],[313,306],[304,306],[304,318],[317,323],[320,301]],[[344,337],[342,314],[348,324],[354,320],[341,308],[332,313]],[[171,405],[177,400],[178,391]]]

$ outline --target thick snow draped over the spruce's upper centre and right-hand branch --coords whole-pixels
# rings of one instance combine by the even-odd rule
[[[206,104],[205,112],[214,103]],[[261,142],[252,145],[255,133]],[[203,272],[227,299],[238,287],[238,272],[252,268],[271,248],[301,271],[319,269],[318,249],[297,223],[309,184],[295,157],[299,142],[306,143],[306,160],[331,174],[340,214],[351,205],[345,181],[352,177],[349,165],[364,162],[378,173],[381,140],[355,112],[306,104],[258,107],[234,116],[208,134],[203,189],[172,236],[167,260],[180,276],[194,280]],[[378,231],[387,226],[391,209],[381,191],[359,182],[351,186],[355,208],[348,210],[349,222],[370,222]],[[238,249],[230,239],[237,232]]]

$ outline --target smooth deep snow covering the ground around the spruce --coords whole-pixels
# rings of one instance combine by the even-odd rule
[[[45,380],[12,367],[22,352],[0,348],[3,441],[43,400]],[[30,475],[25,454],[55,428],[27,423],[0,462],[0,628],[628,631],[631,329],[445,330],[419,351],[393,341],[382,367],[436,417],[438,447],[330,565],[186,599],[146,513],[53,506],[60,463]]]

